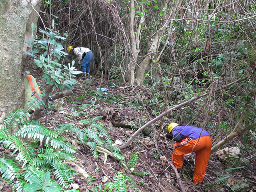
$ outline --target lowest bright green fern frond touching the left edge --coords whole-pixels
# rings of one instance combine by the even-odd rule
[[[13,160],[4,157],[0,158],[0,172],[2,173],[2,178],[10,182],[21,177],[21,171],[18,165]]]

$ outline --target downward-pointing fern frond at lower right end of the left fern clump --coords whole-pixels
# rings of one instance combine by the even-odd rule
[[[54,169],[54,175],[57,179],[60,186],[67,188],[70,182],[73,180],[72,172],[70,171],[70,167],[65,164],[61,164],[60,161],[55,161],[52,163]]]

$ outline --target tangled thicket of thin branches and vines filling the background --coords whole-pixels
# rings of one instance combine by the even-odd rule
[[[162,16],[164,12],[166,16],[171,15],[178,3],[181,6],[173,17]],[[145,17],[138,44],[137,69],[156,34],[162,30],[160,26],[169,20],[142,79],[144,85],[154,89],[149,97],[155,98],[156,104],[149,105],[148,109],[164,111],[168,106],[210,92],[204,100],[187,107],[187,111],[177,111],[169,118],[188,123],[184,117],[189,116],[190,123],[197,120],[203,128],[219,128],[220,133],[225,127],[241,134],[252,128],[256,88],[255,1],[176,0],[166,4],[141,0],[134,6],[134,25],[139,26],[140,18]],[[129,13],[129,2],[119,0],[61,0],[44,4],[41,11],[44,23],[55,19],[61,35],[68,34],[65,47],[92,49],[94,73],[100,74],[107,83],[117,80],[111,79],[113,66],[120,67],[118,80],[126,81],[128,64],[133,57]],[[135,32],[136,26],[132,26]],[[179,77],[180,86],[174,88],[172,77]],[[236,80],[239,81],[228,89],[222,89]],[[220,90],[214,92],[216,88]],[[242,131],[243,127],[246,129]]]

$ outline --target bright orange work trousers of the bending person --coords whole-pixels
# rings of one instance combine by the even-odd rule
[[[191,153],[193,149],[196,154],[193,182],[202,183],[207,163],[210,158],[211,148],[212,140],[210,136],[203,136],[195,140],[186,138],[182,142],[176,142],[174,144],[172,163],[176,168],[181,168],[183,166],[182,159],[184,154]]]

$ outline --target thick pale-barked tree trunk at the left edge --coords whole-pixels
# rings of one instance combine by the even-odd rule
[[[30,24],[38,19],[32,5],[39,2],[0,0],[0,113],[23,107],[24,42],[32,38]]]

